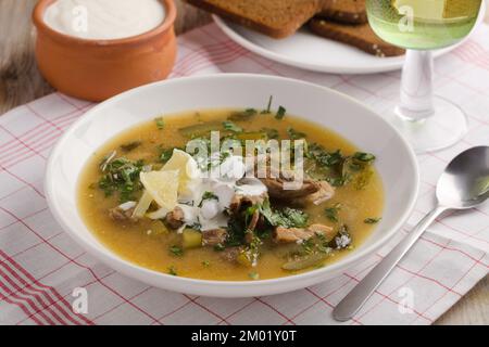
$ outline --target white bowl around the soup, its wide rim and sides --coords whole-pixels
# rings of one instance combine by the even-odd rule
[[[87,229],[76,204],[85,163],[109,139],[156,115],[215,107],[263,108],[268,95],[291,114],[315,121],[375,153],[386,191],[381,222],[353,253],[328,267],[275,280],[224,282],[173,277],[148,270],[109,250]],[[379,136],[381,134],[381,136]],[[173,79],[140,87],[87,112],[58,142],[49,158],[45,190],[64,230],[115,270],[148,284],[195,295],[243,297],[289,292],[330,279],[364,261],[386,244],[411,214],[418,191],[416,158],[400,134],[358,101],[330,89],[280,77],[214,75]]]

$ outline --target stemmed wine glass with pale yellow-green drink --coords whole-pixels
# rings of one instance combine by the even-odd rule
[[[416,153],[448,147],[467,131],[463,111],[434,97],[434,49],[464,39],[482,0],[366,0],[368,22],[385,41],[406,49],[401,100],[390,117]]]

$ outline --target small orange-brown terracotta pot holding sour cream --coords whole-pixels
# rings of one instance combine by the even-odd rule
[[[86,40],[46,25],[43,14],[55,0],[40,0],[33,13],[37,27],[36,59],[42,76],[59,91],[102,101],[125,90],[165,79],[176,59],[173,0],[160,0],[164,22],[129,38]]]

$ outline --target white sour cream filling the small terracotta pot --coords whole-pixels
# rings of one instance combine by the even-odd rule
[[[165,20],[165,8],[159,0],[57,0],[43,18],[64,35],[115,40],[155,28]]]

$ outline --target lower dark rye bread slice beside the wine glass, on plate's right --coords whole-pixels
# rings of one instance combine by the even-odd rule
[[[380,39],[368,24],[339,24],[321,18],[310,22],[313,33],[350,46],[354,46],[377,56],[396,56],[404,54],[404,50]]]

